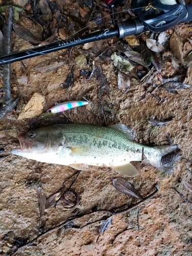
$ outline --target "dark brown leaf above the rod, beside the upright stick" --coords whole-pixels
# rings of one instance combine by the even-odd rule
[[[23,26],[13,24],[13,29],[15,33],[23,38],[24,40],[30,42],[32,45],[39,45],[41,41],[39,41],[29,29],[24,28]]]

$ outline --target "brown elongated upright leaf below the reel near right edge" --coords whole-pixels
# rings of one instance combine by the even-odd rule
[[[182,43],[179,36],[174,32],[170,37],[170,49],[172,50],[173,57],[183,64],[182,59]]]

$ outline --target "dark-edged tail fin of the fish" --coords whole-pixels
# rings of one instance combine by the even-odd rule
[[[157,150],[157,157],[149,160],[143,153],[142,162],[148,162],[164,173],[172,173],[174,171],[174,161],[178,161],[181,156],[181,150],[178,145],[154,146],[153,148]]]

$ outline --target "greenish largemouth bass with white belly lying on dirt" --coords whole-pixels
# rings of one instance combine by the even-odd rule
[[[14,155],[78,170],[87,170],[89,165],[110,166],[129,177],[138,174],[130,162],[141,161],[143,154],[151,165],[165,170],[161,158],[177,150],[177,145],[150,147],[136,143],[124,124],[51,125],[17,138],[20,148],[11,151]]]

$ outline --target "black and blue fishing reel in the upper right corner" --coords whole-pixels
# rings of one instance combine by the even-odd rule
[[[123,2],[124,0],[105,0],[110,7]],[[191,20],[188,13],[192,13],[192,5],[185,4],[184,0],[132,0],[131,6],[145,30],[163,32]]]

